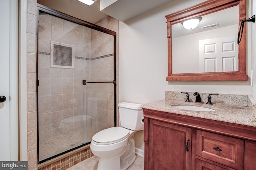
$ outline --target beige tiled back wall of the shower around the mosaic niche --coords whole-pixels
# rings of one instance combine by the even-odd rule
[[[51,15],[39,15],[38,23],[38,127],[40,160],[71,149],[83,142],[83,121],[73,117],[83,115],[83,86],[86,48],[91,30],[82,25]],[[74,69],[51,68],[51,41],[74,45]],[[89,39],[90,43],[90,39]],[[82,59],[80,59],[82,58]],[[70,119],[63,125],[62,120]],[[73,138],[65,137],[72,133]],[[74,134],[77,134],[75,137]],[[68,135],[70,136],[70,135]],[[50,139],[51,138],[51,139]],[[49,140],[48,140],[49,139]],[[59,142],[56,139],[60,139]],[[56,145],[50,145],[54,141]],[[59,147],[63,146],[63,147]],[[59,148],[59,149],[58,149]]]

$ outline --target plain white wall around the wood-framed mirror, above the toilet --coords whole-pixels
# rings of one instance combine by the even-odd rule
[[[248,81],[225,82],[166,81],[168,49],[164,16],[203,1],[174,0],[125,23],[119,21],[119,102],[145,104],[163,100],[165,91],[251,94],[250,78]],[[248,36],[250,33],[247,33]],[[248,74],[251,69],[250,55],[247,58]],[[135,138],[137,143],[143,143],[141,133]],[[136,147],[140,146],[137,144]]]

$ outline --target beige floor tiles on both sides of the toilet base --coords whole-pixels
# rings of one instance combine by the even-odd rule
[[[99,157],[92,156],[67,170],[97,170]],[[144,170],[144,158],[136,155],[134,163],[127,170]]]

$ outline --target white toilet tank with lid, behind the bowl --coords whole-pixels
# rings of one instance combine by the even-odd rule
[[[122,102],[118,104],[119,117],[121,126],[133,131],[144,129],[141,119],[143,118],[143,110],[140,104]]]

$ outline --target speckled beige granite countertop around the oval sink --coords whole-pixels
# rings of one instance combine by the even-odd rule
[[[177,105],[189,105],[189,106],[200,106],[206,107],[209,109],[214,109],[215,111],[191,111],[185,109],[178,109],[172,106]],[[236,123],[241,125],[248,125],[256,127],[256,121],[254,121],[255,115],[255,106],[254,104],[246,106],[234,106],[226,104],[213,104],[208,105],[205,102],[196,103],[196,102],[184,102],[184,100],[172,100],[165,99],[149,104],[143,104],[140,107],[144,109],[152,109],[157,111],[164,111],[168,113],[176,113],[180,115],[188,115],[194,117],[201,117],[205,119],[212,119],[217,121],[224,121],[230,123]]]

